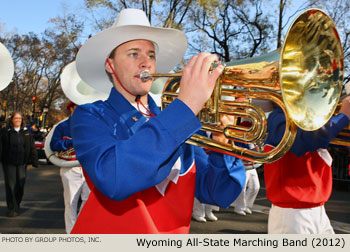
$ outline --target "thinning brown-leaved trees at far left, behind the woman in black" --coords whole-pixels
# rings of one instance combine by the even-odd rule
[[[13,81],[0,96],[6,104],[5,113],[18,110],[34,119],[43,114],[44,108],[50,110],[64,101],[59,89],[60,73],[80,47],[82,23],[74,15],[52,22],[55,27],[47,29],[42,38],[29,33],[2,39],[15,63]]]

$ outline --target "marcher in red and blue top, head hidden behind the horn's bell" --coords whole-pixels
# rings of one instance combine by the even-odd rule
[[[281,159],[264,165],[266,196],[272,202],[270,234],[334,234],[324,204],[332,192],[331,139],[349,123],[350,97],[339,114],[316,131],[298,129],[296,139]],[[276,107],[268,117],[266,150],[277,146],[285,129],[285,116]]]

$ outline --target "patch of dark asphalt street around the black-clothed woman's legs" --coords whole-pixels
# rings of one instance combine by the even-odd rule
[[[59,169],[53,165],[28,168],[21,214],[6,216],[5,185],[0,171],[0,233],[64,234],[64,203]]]

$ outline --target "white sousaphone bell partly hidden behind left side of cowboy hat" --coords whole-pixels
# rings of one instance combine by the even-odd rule
[[[61,87],[65,96],[78,105],[106,100],[108,98],[108,93],[93,89],[80,78],[75,61],[72,61],[63,68],[61,73]]]

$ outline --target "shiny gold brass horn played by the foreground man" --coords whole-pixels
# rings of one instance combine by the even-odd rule
[[[279,159],[292,146],[297,127],[316,130],[333,115],[342,89],[343,60],[343,49],[332,19],[319,9],[306,10],[289,28],[280,50],[225,66],[198,117],[204,131],[221,132],[230,143],[223,144],[197,134],[187,142],[258,163]],[[181,73],[150,76],[171,77],[163,90],[162,107],[165,108],[178,95]],[[244,97],[249,101],[265,99],[282,108],[286,129],[273,150],[258,152],[234,144],[238,141],[260,145],[266,138],[267,122],[259,106],[252,102],[235,102],[232,97]],[[247,118],[252,126],[247,128],[233,123],[222,130],[220,114]]]

